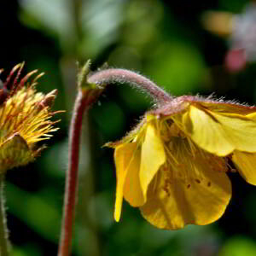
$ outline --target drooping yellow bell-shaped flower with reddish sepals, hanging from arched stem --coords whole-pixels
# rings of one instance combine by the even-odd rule
[[[160,229],[205,225],[229,204],[227,172],[256,185],[256,108],[182,96],[146,113],[114,148],[114,218],[123,197]]]

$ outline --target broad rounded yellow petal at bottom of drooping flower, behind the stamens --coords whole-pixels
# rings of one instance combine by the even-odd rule
[[[141,207],[143,217],[168,230],[212,223],[222,216],[231,196],[224,159],[186,138],[173,137],[170,143],[173,160],[149,184],[148,200]]]

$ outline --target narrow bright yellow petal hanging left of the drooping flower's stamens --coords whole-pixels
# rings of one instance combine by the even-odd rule
[[[140,166],[140,181],[143,189],[144,201],[147,200],[148,184],[152,181],[160,166],[166,162],[166,153],[160,135],[157,134],[152,122],[147,125],[145,140],[142,146],[142,160]]]

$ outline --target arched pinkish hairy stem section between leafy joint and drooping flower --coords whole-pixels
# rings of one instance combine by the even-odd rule
[[[131,84],[138,90],[143,90],[152,96],[155,102],[170,102],[173,97],[169,95],[165,90],[162,90],[159,86],[154,84],[149,79],[142,75],[132,72],[130,70],[121,68],[109,68],[93,73],[88,78],[89,83],[93,84]]]

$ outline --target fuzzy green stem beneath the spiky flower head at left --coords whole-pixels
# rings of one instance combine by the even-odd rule
[[[5,207],[4,207],[4,196],[3,196],[3,181],[4,174],[0,174],[0,255],[9,255],[9,241],[8,241],[8,230],[6,224]]]

